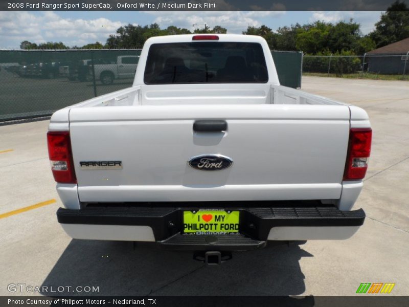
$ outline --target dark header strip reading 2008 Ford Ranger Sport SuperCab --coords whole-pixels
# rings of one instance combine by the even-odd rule
[[[8,0],[0,11],[385,11],[395,0]],[[409,0],[401,0],[408,4]]]

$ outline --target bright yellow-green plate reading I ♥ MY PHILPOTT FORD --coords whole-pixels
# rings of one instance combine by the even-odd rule
[[[184,233],[235,233],[239,232],[240,211],[223,209],[184,211]]]

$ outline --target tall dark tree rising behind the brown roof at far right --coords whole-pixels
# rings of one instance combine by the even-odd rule
[[[409,8],[404,2],[394,2],[382,14],[375,27],[370,37],[375,41],[376,48],[409,37]]]

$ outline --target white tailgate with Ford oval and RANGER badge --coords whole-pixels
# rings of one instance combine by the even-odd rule
[[[196,120],[225,120],[196,132]],[[82,202],[338,199],[350,113],[345,105],[139,105],[72,108],[70,135]],[[229,168],[201,171],[192,157]],[[122,168],[81,168],[121,161]]]

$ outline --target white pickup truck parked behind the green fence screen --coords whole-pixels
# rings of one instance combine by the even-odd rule
[[[129,79],[135,75],[139,56],[137,55],[121,55],[117,57],[115,63],[111,64],[94,64],[88,65],[89,75],[95,74],[102,84],[112,84],[115,79]],[[93,70],[94,69],[94,73]]]

